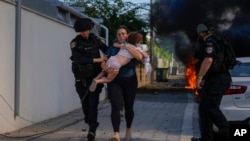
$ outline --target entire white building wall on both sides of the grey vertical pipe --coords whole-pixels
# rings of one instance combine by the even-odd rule
[[[76,33],[69,25],[22,8],[20,114],[14,117],[14,4],[0,1],[0,133],[80,107],[69,59],[69,42]]]

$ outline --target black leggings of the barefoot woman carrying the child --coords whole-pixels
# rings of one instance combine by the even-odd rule
[[[114,132],[119,132],[121,116],[121,101],[124,104],[126,127],[130,128],[134,119],[134,101],[137,90],[137,77],[117,76],[111,83],[108,83],[108,96],[111,103],[111,122]]]

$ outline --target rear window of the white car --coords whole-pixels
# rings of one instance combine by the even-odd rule
[[[239,63],[230,73],[232,77],[250,77],[250,63]]]

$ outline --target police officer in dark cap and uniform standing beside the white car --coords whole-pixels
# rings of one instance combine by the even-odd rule
[[[229,71],[222,68],[222,49],[213,36],[213,32],[205,24],[197,26],[199,37],[203,41],[200,45],[199,63],[196,86],[201,92],[199,101],[199,117],[201,137],[192,141],[212,141],[213,124],[219,128],[223,141],[229,140],[229,125],[220,110],[223,94],[229,88],[231,76]],[[222,54],[222,56],[220,55]]]

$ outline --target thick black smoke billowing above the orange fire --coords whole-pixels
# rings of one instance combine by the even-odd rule
[[[196,48],[197,24],[213,25],[231,40],[237,56],[250,56],[249,0],[155,0],[151,24],[156,35],[168,38],[184,32],[190,44],[176,40],[176,56],[183,62]]]

